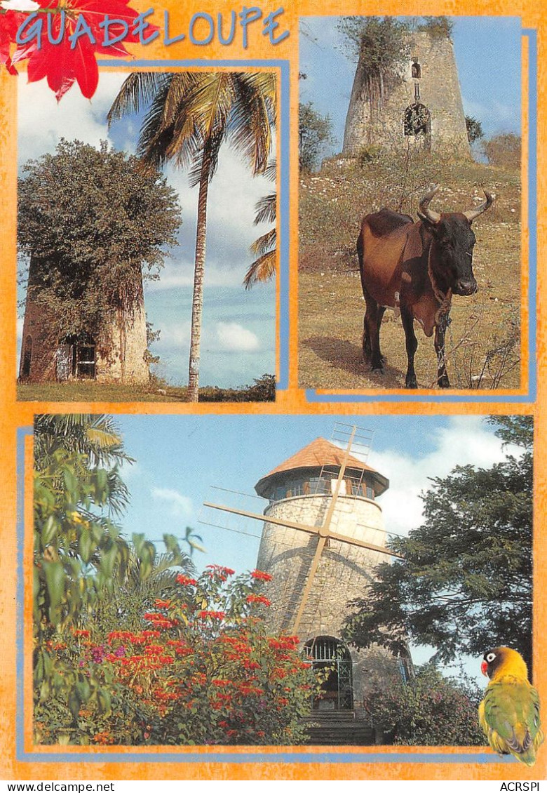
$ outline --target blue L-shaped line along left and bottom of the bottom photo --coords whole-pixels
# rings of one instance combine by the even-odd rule
[[[131,753],[131,752],[26,752],[25,751],[25,688],[24,688],[24,539],[25,539],[25,438],[33,434],[33,427],[19,427],[17,429],[17,646],[16,646],[16,675],[17,675],[17,714],[15,719],[15,749],[16,758],[23,763],[477,763],[480,765],[513,764],[517,763],[512,756],[499,757],[486,752],[470,753],[462,751],[456,754],[443,754],[440,752],[403,753],[395,749],[381,753],[362,752],[319,752],[307,751],[266,753],[257,748],[256,751],[244,753],[220,750],[213,753]],[[29,497],[32,494],[27,494]]]

